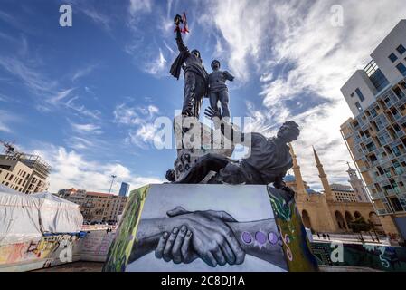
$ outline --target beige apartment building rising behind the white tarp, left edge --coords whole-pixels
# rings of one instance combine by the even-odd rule
[[[37,155],[0,155],[0,184],[22,193],[48,190],[50,171],[51,167]]]

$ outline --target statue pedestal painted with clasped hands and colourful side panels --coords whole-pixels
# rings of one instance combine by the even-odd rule
[[[287,215],[276,221],[264,186],[138,189],[104,271],[316,270],[293,209],[290,202]]]

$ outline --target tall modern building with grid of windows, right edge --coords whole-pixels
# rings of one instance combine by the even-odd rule
[[[382,224],[406,237],[406,20],[341,92],[354,118],[341,125]]]

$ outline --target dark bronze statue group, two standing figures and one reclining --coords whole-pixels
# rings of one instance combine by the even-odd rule
[[[244,140],[250,140],[250,155],[242,160],[231,160],[217,154],[206,154],[196,160],[189,172],[180,180],[170,179],[176,183],[201,183],[211,172],[216,174],[207,183],[212,184],[264,184],[273,183],[277,189],[286,189],[283,178],[293,166],[288,143],[297,140],[300,131],[294,121],[285,122],[274,138],[267,138],[260,133],[242,133],[236,131],[230,122],[229,92],[227,81],[233,81],[234,76],[227,71],[221,70],[218,60],[212,61],[212,73],[207,73],[203,66],[201,53],[189,49],[184,44],[182,32],[188,31],[184,24],[180,24],[185,16],[176,15],[175,34],[179,55],[171,66],[170,73],[179,79],[181,71],[184,71],[184,103],[183,117],[199,118],[203,98],[210,99],[210,108],[205,110],[205,115],[225,132],[230,132],[227,138],[232,144],[242,144]],[[185,22],[185,21],[184,21]],[[218,103],[221,103],[221,109]],[[239,136],[239,138],[234,138]],[[167,176],[173,176],[167,174]]]

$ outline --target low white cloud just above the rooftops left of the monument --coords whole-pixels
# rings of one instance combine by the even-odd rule
[[[51,181],[50,191],[57,192],[59,189],[87,189],[90,191],[108,192],[110,176],[117,175],[118,179],[112,192],[118,193],[119,183],[126,181],[132,189],[145,186],[149,183],[162,183],[162,179],[145,177],[133,174],[127,167],[116,163],[99,163],[87,160],[74,150],[66,150],[63,147],[47,146],[42,150],[35,150],[35,154],[42,156],[52,166],[49,177]]]

